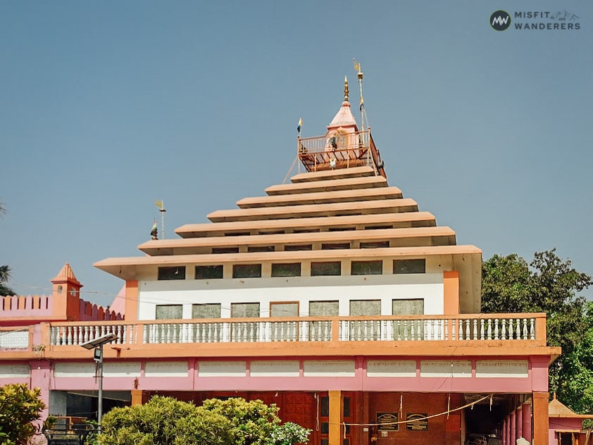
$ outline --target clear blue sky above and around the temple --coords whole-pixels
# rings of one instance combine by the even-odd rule
[[[517,11],[580,29],[517,30],[554,23]],[[281,183],[299,116],[320,135],[344,75],[356,97],[353,57],[390,185],[484,258],[556,247],[593,274],[591,2],[4,1],[0,30],[0,264],[18,294],[51,292],[68,262],[108,304],[123,282],[92,264],[142,254],[155,199],[175,237]]]

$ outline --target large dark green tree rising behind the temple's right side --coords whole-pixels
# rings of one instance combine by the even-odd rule
[[[536,252],[529,264],[514,253],[482,263],[482,312],[547,314],[548,344],[562,348],[549,368],[550,391],[580,412],[580,394],[569,390],[568,382],[586,381],[585,370],[593,370],[592,363],[580,360],[593,317],[587,315],[587,300],[578,294],[591,284],[592,278],[559,258],[556,249]]]

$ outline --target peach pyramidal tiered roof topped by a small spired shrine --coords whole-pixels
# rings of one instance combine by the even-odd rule
[[[167,265],[464,254],[481,261],[480,249],[457,246],[451,228],[437,226],[432,214],[389,186],[370,132],[358,131],[347,92],[346,85],[324,136],[299,135],[305,173],[268,187],[264,196],[240,199],[237,208],[213,211],[211,223],[177,228],[178,239],[141,244],[146,256],[95,266],[125,280],[151,280],[156,266]]]

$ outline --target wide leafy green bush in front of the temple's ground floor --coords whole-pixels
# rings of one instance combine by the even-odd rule
[[[104,415],[101,445],[294,445],[311,430],[287,422],[262,401],[208,399],[203,406],[154,396]]]

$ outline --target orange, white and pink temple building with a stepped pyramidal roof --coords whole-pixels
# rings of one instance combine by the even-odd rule
[[[389,184],[365,119],[346,82],[289,182],[96,263],[125,284],[123,320],[44,320],[0,350],[0,384],[42,363],[49,412],[79,415],[97,389],[81,345],[111,334],[108,406],[261,399],[313,445],[552,443],[545,314],[480,313],[482,252]]]

